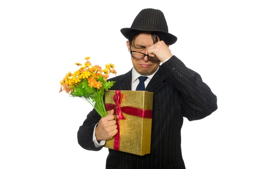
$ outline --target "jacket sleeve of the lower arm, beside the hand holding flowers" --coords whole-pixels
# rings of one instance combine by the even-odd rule
[[[77,132],[77,139],[79,145],[87,150],[92,151],[99,151],[102,149],[103,146],[96,148],[93,143],[93,130],[97,123],[99,123],[99,120],[101,119],[98,112],[96,112],[95,109],[93,109],[88,115],[87,118],[84,120],[84,123],[82,126],[79,127],[79,130]]]

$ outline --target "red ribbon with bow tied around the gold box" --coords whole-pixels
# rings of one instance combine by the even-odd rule
[[[117,115],[116,125],[117,125],[118,132],[114,138],[114,149],[119,151],[120,149],[119,119],[125,120],[125,117],[123,116],[122,112],[128,115],[134,115],[142,118],[152,118],[152,110],[139,109],[131,106],[120,107],[122,102],[122,93],[120,90],[116,90],[116,94],[113,96],[113,100],[116,104],[106,103],[105,108],[106,108],[106,111],[114,109],[114,114]]]

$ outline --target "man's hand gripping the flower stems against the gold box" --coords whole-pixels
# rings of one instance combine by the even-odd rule
[[[114,110],[99,120],[98,126],[95,129],[95,136],[97,141],[109,140],[117,133],[117,125],[114,117]]]

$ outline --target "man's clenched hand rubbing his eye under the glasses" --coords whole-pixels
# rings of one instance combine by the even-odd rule
[[[162,63],[173,56],[169,46],[167,46],[163,40],[148,47],[148,55],[156,56]]]

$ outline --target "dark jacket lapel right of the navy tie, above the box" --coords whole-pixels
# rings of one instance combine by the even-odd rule
[[[149,81],[145,90],[148,92],[153,92],[155,95],[166,84],[165,83],[166,79],[167,79],[167,76],[161,71],[161,66],[160,66],[159,70],[156,72],[156,74],[154,74],[152,79]]]

